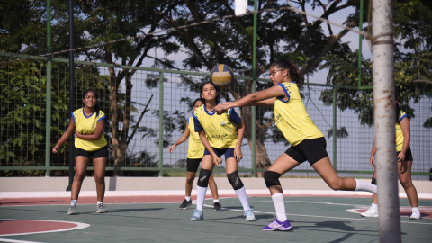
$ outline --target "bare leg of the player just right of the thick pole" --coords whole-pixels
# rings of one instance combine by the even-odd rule
[[[419,207],[419,198],[417,196],[417,190],[411,180],[411,166],[412,161],[398,162],[399,179],[405,193],[407,193],[408,200],[410,201],[411,207]]]

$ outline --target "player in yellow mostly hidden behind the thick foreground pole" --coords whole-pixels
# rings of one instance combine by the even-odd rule
[[[397,97],[397,95],[396,95]],[[396,153],[398,157],[398,172],[399,179],[407,193],[408,200],[411,204],[412,214],[410,218],[412,220],[419,220],[419,198],[417,195],[417,190],[411,181],[411,166],[412,166],[412,154],[410,148],[410,117],[403,111],[396,101]],[[371,152],[371,166],[375,166],[375,143]],[[374,171],[374,176],[372,177],[372,184],[376,184],[376,170]],[[371,207],[360,214],[363,217],[378,217],[378,197],[372,195],[372,205]]]

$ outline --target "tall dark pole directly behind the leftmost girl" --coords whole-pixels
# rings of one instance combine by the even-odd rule
[[[69,49],[74,49],[74,0],[69,0]],[[74,88],[74,51],[69,51],[69,113],[75,110]],[[69,185],[67,191],[72,190],[75,175],[75,136],[69,137]]]

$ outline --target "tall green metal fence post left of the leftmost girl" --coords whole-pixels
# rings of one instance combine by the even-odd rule
[[[47,53],[51,52],[51,0],[47,0]],[[49,177],[51,166],[51,56],[47,62],[47,121],[45,124],[45,176]]]

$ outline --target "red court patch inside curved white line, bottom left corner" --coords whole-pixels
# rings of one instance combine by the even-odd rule
[[[45,220],[0,220],[0,236],[75,228],[75,223]]]

